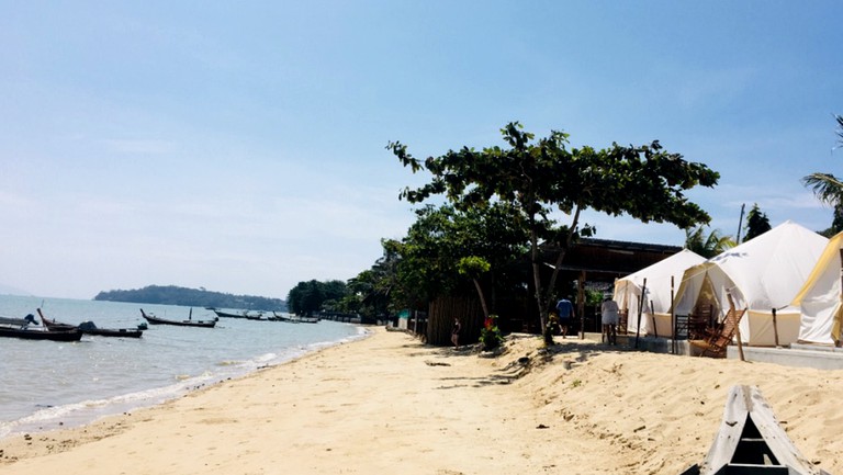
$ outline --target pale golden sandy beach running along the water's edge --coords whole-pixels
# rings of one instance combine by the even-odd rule
[[[678,474],[757,385],[802,455],[843,473],[843,371],[513,336],[496,358],[363,340],[74,429],[0,440],[1,474]]]

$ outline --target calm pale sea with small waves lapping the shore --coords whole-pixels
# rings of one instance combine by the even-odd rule
[[[210,320],[198,307],[0,295],[0,316],[44,316],[100,328],[136,328],[157,317]],[[228,309],[236,310],[236,309]],[[271,315],[267,313],[267,315]],[[78,427],[173,399],[305,353],[363,338],[350,324],[220,318],[215,328],[149,325],[142,338],[82,336],[77,342],[0,338],[0,439]]]

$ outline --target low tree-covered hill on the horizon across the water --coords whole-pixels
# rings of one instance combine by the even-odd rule
[[[133,302],[137,304],[183,305],[188,307],[286,312],[286,302],[280,298],[232,295],[221,292],[209,292],[204,289],[178,287],[176,285],[149,285],[131,291],[100,292],[93,299]]]

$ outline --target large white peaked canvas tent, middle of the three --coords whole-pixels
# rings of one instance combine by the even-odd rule
[[[731,294],[735,307],[748,310],[739,327],[744,343],[789,344],[799,336],[800,321],[799,309],[790,302],[828,242],[810,229],[785,222],[686,270],[674,298],[675,312],[687,315],[705,304],[722,318]]]

